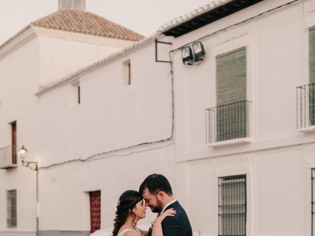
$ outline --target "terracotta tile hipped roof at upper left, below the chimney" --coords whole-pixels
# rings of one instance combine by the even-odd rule
[[[69,8],[60,9],[51,15],[32,22],[31,25],[132,41],[143,39],[142,35],[91,12]]]

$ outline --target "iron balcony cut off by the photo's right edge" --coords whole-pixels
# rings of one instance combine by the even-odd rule
[[[296,88],[296,122],[300,132],[315,131],[315,83]]]

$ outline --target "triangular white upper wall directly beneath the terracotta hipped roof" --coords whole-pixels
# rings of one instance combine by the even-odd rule
[[[67,34],[67,32],[66,32]],[[50,35],[49,35],[50,36]],[[45,86],[58,79],[61,79],[77,70],[103,59],[132,42],[120,42],[123,40],[107,39],[97,37],[97,42],[87,43],[83,39],[75,41],[79,35],[72,35],[68,38],[53,38],[47,36],[38,37],[39,47],[39,85]],[[86,36],[86,40],[94,39],[96,36]],[[102,42],[103,40],[104,42]],[[106,45],[106,41],[110,41]],[[97,44],[98,43],[98,44]]]

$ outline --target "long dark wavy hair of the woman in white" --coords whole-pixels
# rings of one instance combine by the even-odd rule
[[[120,196],[118,200],[118,204],[117,204],[116,217],[114,219],[115,223],[114,223],[113,236],[117,236],[117,233],[120,227],[122,227],[122,225],[126,222],[129,210],[130,210],[131,215],[134,215],[132,212],[132,209],[140,201],[142,201],[141,194],[134,190],[127,190]],[[134,218],[135,218],[135,215],[134,215]]]

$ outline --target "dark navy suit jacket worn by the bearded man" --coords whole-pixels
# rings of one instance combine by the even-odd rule
[[[192,236],[192,230],[188,216],[178,201],[172,203],[165,210],[174,208],[175,216],[167,216],[162,221],[163,236]],[[152,229],[149,229],[148,236],[152,236]]]

